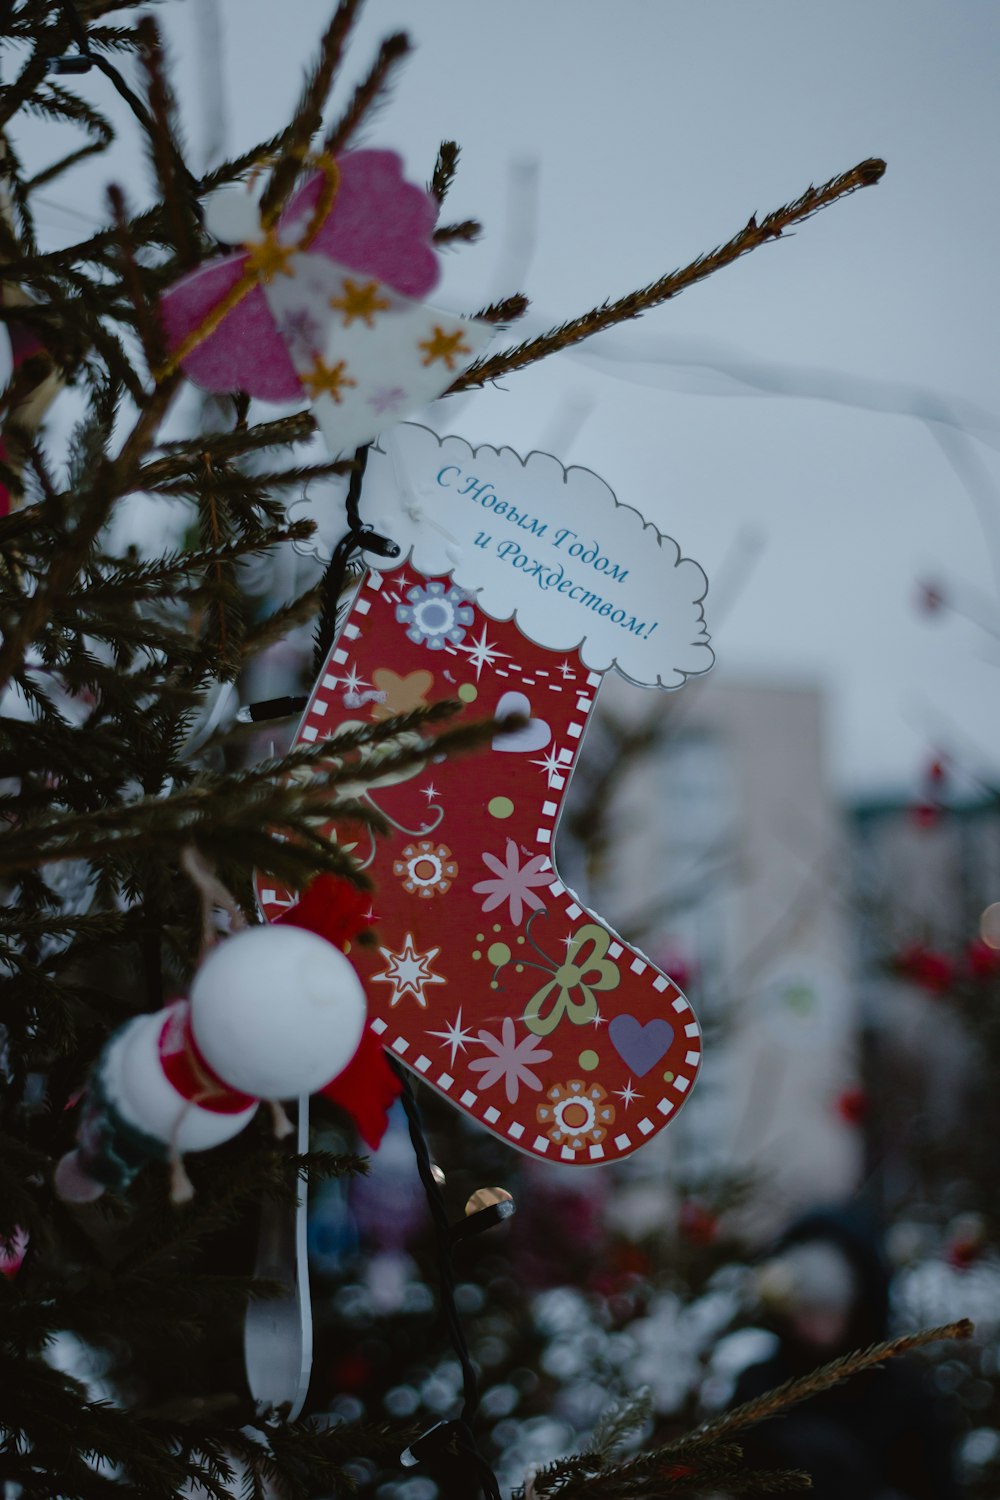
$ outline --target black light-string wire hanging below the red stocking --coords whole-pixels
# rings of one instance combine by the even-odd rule
[[[433,1166],[430,1161],[430,1149],[427,1146],[427,1137],[424,1136],[423,1122],[420,1119],[420,1107],[409,1082],[409,1076],[405,1068],[390,1054],[390,1066],[396,1072],[402,1084],[402,1102],[406,1112],[406,1125],[409,1126],[409,1140],[414,1148],[414,1155],[417,1158],[417,1172],[420,1173],[420,1180],[423,1184],[424,1194],[427,1197],[427,1208],[430,1209],[430,1218],[435,1227],[435,1239],[438,1244],[438,1274],[441,1280],[441,1308],[444,1312],[445,1324],[448,1329],[448,1338],[451,1340],[451,1347],[454,1348],[456,1358],[462,1366],[462,1389],[465,1400],[462,1402],[462,1418],[457,1422],[442,1424],[442,1436],[451,1438],[459,1449],[459,1456],[465,1456],[469,1461],[469,1467],[474,1467],[478,1474],[478,1482],[483,1491],[490,1497],[490,1500],[501,1500],[499,1484],[496,1482],[496,1474],[490,1468],[489,1462],[483,1456],[475,1442],[475,1434],[472,1431],[472,1422],[480,1406],[480,1382],[472,1364],[472,1356],[469,1354],[469,1346],[465,1338],[465,1329],[462,1328],[462,1318],[459,1317],[459,1308],[454,1298],[454,1266],[451,1264],[451,1222],[448,1218],[448,1209],[444,1200],[444,1194],[438,1185],[433,1174]],[[411,1452],[415,1456],[424,1460],[429,1468],[433,1468],[433,1454],[430,1450],[429,1438],[439,1430],[432,1428],[430,1432],[424,1434],[418,1443],[414,1443]],[[445,1474],[441,1476],[442,1479]],[[457,1476],[456,1476],[457,1478]],[[468,1491],[466,1491],[468,1494]]]

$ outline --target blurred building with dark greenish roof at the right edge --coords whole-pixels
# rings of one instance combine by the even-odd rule
[[[852,808],[868,1118],[886,1218],[996,1202],[1000,1166],[1000,796]]]

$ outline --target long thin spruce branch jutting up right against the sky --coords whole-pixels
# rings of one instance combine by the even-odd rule
[[[822,188],[808,188],[801,198],[796,198],[795,202],[786,204],[783,208],[775,208],[760,224],[757,224],[756,216],[751,216],[748,224],[745,224],[732,240],[721,244],[715,250],[709,250],[708,255],[699,255],[697,260],[691,261],[691,264],[685,266],[682,270],[670,272],[667,276],[661,276],[648,286],[628,292],[625,297],[619,297],[618,302],[601,303],[600,308],[594,308],[591,312],[585,312],[580,318],[573,318],[570,322],[550,328],[549,333],[543,333],[535,339],[529,339],[514,348],[501,350],[498,354],[490,354],[486,358],[478,360],[475,364],[469,366],[465,374],[459,375],[454,384],[450,386],[447,394],[486,386],[489,381],[499,380],[502,375],[510,375],[513,370],[523,369],[526,364],[535,364],[549,354],[558,354],[559,350],[568,350],[574,344],[580,344],[583,339],[592,338],[595,333],[613,328],[619,322],[625,322],[630,318],[640,318],[643,312],[660,306],[663,302],[669,302],[672,297],[676,297],[696,282],[705,280],[724,266],[732,266],[750,250],[756,250],[769,240],[780,238],[786,230],[792,228],[792,225],[811,219],[814,213],[829,207],[829,204],[837,202],[840,198],[846,198],[850,194],[858,192],[859,188],[871,188],[882,178],[885,170],[886,164],[882,160],[870,159],[861,162],[849,172],[843,172],[840,177],[831,178],[831,182],[825,183]]]

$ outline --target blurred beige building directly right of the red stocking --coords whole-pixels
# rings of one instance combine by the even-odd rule
[[[763,1236],[850,1192],[858,1006],[822,694],[715,674],[648,693],[609,674],[556,858],[706,1032],[691,1102],[624,1168],[673,1192],[637,1192],[633,1209],[745,1176],[741,1227]]]

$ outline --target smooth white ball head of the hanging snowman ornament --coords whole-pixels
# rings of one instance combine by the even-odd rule
[[[315,1094],[358,1048],[367,1006],[339,948],[303,927],[250,927],[195,975],[192,1030],[210,1068],[261,1100]]]

